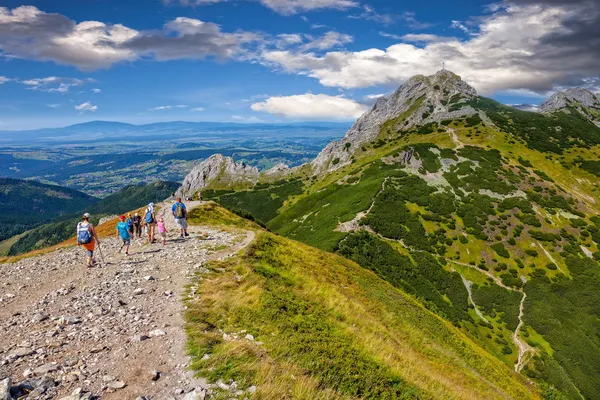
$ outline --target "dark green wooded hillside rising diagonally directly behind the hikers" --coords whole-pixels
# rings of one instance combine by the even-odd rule
[[[92,222],[98,223],[101,217],[120,214],[137,209],[150,202],[162,201],[179,187],[174,182],[154,182],[148,185],[129,185],[97,203],[79,208],[77,213],[38,226],[20,237],[8,251],[8,255],[17,255],[36,249],[53,246],[74,235],[75,226],[83,212],[92,215]],[[39,225],[39,224],[38,224]]]

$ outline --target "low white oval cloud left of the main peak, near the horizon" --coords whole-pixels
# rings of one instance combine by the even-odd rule
[[[251,108],[301,120],[350,120],[358,118],[368,107],[341,96],[306,93],[269,97],[264,102],[252,104]]]

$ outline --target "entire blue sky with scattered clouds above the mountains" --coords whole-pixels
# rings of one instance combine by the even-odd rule
[[[600,90],[596,0],[0,1],[0,130],[352,121],[446,68],[539,104]]]

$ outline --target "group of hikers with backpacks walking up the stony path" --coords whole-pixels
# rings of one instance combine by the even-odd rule
[[[174,196],[173,196],[174,197]],[[160,234],[160,240],[163,245],[167,243],[167,226],[164,218],[156,218],[154,203],[148,204],[142,217],[139,213],[134,215],[127,214],[119,216],[119,222],[116,227],[116,237],[122,242],[119,252],[125,249],[125,254],[129,255],[129,246],[131,240],[135,237],[142,237],[142,228],[145,227],[148,234],[148,243],[156,242],[156,230]],[[181,197],[175,199],[175,203],[171,207],[171,213],[175,218],[175,223],[179,230],[179,239],[184,239],[189,236],[187,223],[187,208],[181,201]],[[94,225],[90,222],[90,214],[83,214],[82,220],[77,224],[77,245],[82,246],[87,251],[87,266],[93,267],[96,265],[94,259],[94,251],[96,246],[100,249],[100,239]],[[100,253],[102,255],[102,253]]]

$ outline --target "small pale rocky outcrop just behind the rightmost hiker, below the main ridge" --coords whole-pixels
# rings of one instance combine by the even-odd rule
[[[177,194],[184,197],[193,196],[210,185],[254,186],[259,176],[258,168],[246,163],[237,163],[231,157],[215,154],[192,169],[183,180]]]

